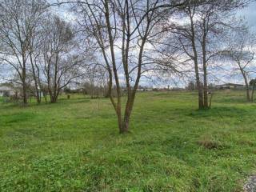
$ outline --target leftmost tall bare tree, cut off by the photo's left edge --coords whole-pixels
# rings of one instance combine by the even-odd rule
[[[31,38],[46,10],[44,0],[0,1],[0,60],[11,66],[22,85],[23,103],[27,104],[26,73],[30,58]]]

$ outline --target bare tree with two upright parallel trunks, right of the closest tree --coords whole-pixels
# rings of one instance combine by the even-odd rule
[[[178,13],[176,21],[165,27],[170,30],[168,45],[164,53],[178,53],[182,63],[194,64],[194,77],[198,89],[198,108],[208,109],[208,67],[222,50],[223,36],[230,25],[234,10],[244,6],[247,1],[206,1],[192,2]]]

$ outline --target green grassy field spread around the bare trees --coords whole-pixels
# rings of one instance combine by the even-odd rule
[[[256,104],[242,92],[140,93],[130,134],[107,98],[0,103],[0,191],[242,191],[256,165]]]

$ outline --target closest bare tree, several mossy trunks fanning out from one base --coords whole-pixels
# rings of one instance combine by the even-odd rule
[[[98,56],[102,57],[102,65],[108,72],[108,95],[118,117],[119,132],[126,133],[143,73],[142,66],[146,62],[146,46],[149,46],[151,35],[162,20],[159,13],[184,6],[188,1],[74,2],[80,30],[90,38],[95,50],[100,51]],[[127,90],[126,98],[122,98],[122,85]],[[114,86],[116,98],[112,93]],[[126,100],[125,106],[122,106],[122,99]]]

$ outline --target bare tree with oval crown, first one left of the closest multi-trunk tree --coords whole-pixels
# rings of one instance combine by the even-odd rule
[[[84,73],[83,59],[76,53],[76,42],[71,26],[57,16],[44,25],[42,71],[46,78],[50,102],[57,102],[60,91]]]

